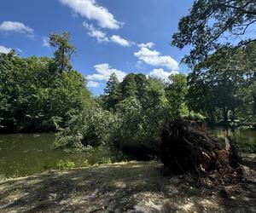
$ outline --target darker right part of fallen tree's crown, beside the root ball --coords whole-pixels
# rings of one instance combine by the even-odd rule
[[[167,111],[165,108],[155,106],[143,110],[143,107],[134,106],[122,102],[123,106],[118,108],[122,115],[119,129],[114,132],[113,140],[122,149],[137,150],[141,153],[156,153],[159,151],[159,136],[163,124],[166,122]]]

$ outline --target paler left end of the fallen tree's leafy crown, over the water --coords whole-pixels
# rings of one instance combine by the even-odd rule
[[[68,122],[67,128],[58,135],[55,147],[88,151],[109,143],[118,126],[117,115],[99,107],[86,108]]]

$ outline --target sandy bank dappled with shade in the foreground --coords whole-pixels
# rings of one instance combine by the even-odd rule
[[[161,168],[154,161],[103,164],[0,181],[0,212],[256,212],[255,182],[195,187]]]

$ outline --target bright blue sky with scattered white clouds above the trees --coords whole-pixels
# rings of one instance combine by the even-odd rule
[[[74,69],[102,93],[111,72],[166,78],[189,72],[179,62],[188,49],[170,45],[179,19],[193,0],[2,0],[0,51],[16,49],[21,57],[49,57],[50,32],[70,32],[78,49]]]

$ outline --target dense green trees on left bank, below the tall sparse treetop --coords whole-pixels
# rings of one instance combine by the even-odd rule
[[[0,131],[57,130],[70,114],[93,104],[84,77],[70,69],[58,72],[55,63],[0,54]]]

